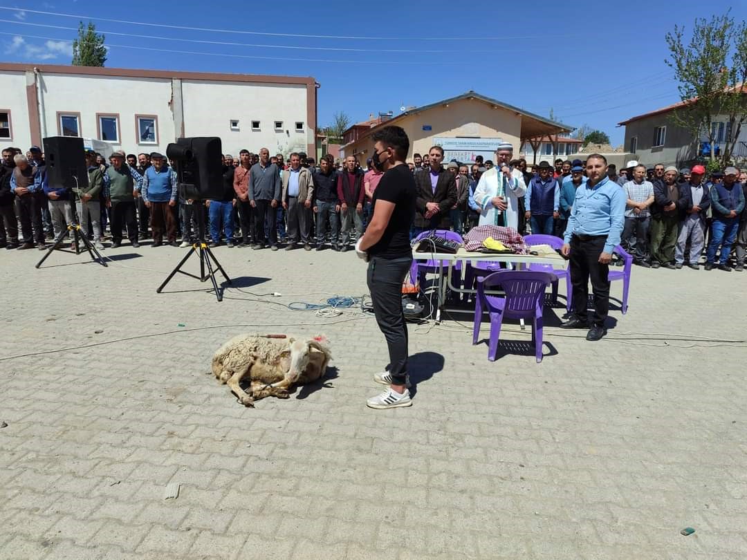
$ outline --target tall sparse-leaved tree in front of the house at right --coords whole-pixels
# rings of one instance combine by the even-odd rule
[[[666,34],[669,58],[675,71],[684,106],[669,117],[675,125],[689,131],[698,141],[710,143],[710,157],[716,155],[717,128],[713,122],[725,121],[725,143],[721,164],[731,154],[747,119],[747,24],[734,22],[731,9],[722,16],[695,19],[692,36],[686,43],[685,28],[675,25]]]

